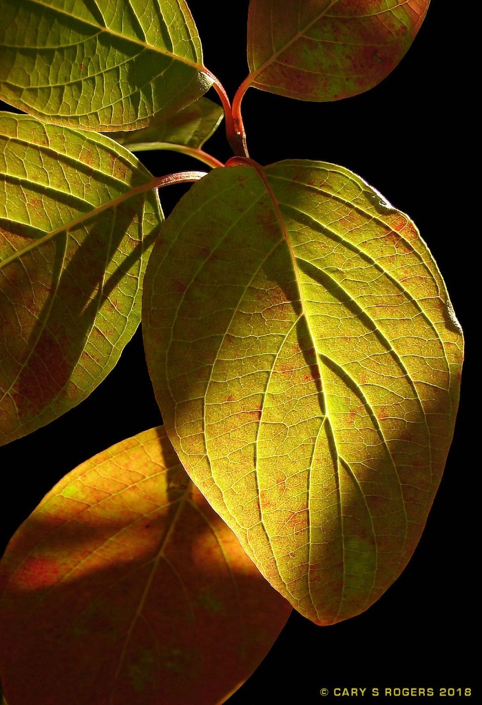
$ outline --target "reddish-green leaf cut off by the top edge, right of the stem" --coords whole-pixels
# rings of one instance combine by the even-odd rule
[[[312,101],[363,93],[401,61],[429,2],[251,0],[246,87]]]

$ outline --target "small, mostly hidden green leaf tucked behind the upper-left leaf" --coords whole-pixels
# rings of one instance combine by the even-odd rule
[[[200,98],[167,120],[142,130],[110,133],[109,137],[132,152],[173,149],[173,145],[201,149],[223,119],[223,109],[208,98]]]

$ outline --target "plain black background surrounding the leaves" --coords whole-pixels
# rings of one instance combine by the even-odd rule
[[[190,2],[205,65],[230,97],[247,74],[247,5],[247,0],[220,5]],[[353,700],[334,697],[334,687],[366,687],[358,703],[427,700],[372,698],[368,695],[372,687],[381,692],[384,687],[432,687],[431,701],[438,701],[440,687],[472,687],[474,692],[469,638],[477,636],[474,480],[480,465],[469,420],[475,409],[470,395],[476,379],[471,362],[470,328],[475,328],[471,264],[477,260],[472,249],[475,208],[466,195],[473,130],[470,97],[464,97],[460,87],[464,47],[457,23],[460,20],[453,13],[449,16],[443,3],[433,2],[400,66],[361,96],[314,104],[249,90],[243,102],[249,151],[261,164],[294,157],[342,164],[414,219],[445,278],[469,355],[443,482],[426,531],[402,576],[369,611],[345,623],[316,627],[292,613],[273,649],[229,705]],[[213,91],[209,97],[216,100]],[[205,149],[223,161],[231,156],[222,128]],[[156,176],[203,168],[178,154],[141,156]],[[161,192],[166,214],[186,188]],[[116,369],[85,403],[0,450],[5,482],[8,479],[1,548],[63,474],[160,420],[137,333]],[[323,687],[330,690],[328,697],[321,697]]]

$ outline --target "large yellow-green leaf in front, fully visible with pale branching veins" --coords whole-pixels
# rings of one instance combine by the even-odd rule
[[[298,611],[364,611],[419,541],[455,422],[462,331],[430,252],[316,161],[214,169],[161,237],[142,320],[180,460]]]

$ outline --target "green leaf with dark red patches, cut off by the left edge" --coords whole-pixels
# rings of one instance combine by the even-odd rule
[[[2,443],[85,399],[137,329],[152,179],[108,137],[0,114]]]

